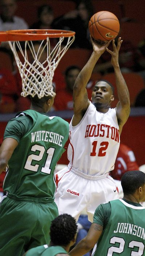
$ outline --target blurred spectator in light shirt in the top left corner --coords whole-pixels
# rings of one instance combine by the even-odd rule
[[[0,0],[0,31],[28,29],[28,24],[21,17],[15,16],[16,0]]]

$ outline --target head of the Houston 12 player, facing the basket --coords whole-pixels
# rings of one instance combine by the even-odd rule
[[[99,80],[92,91],[92,103],[96,107],[108,107],[114,100],[114,88],[113,85],[107,80]]]

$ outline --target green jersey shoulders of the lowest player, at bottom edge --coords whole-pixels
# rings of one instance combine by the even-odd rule
[[[35,248],[30,249],[27,253],[26,256],[55,256],[58,253],[66,253],[65,249],[63,249],[61,246],[48,246],[46,245],[41,245]]]

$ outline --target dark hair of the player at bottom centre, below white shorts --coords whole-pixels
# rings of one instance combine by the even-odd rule
[[[50,239],[55,245],[66,246],[74,239],[76,230],[76,220],[71,215],[59,215],[51,222]]]

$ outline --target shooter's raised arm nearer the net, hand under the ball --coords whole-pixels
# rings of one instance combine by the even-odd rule
[[[80,120],[82,119],[82,110],[85,111],[89,105],[86,86],[91,77],[92,70],[94,69],[94,66],[98,61],[99,57],[101,56],[101,54],[103,54],[106,47],[110,43],[110,41],[108,41],[104,42],[103,45],[96,44],[96,42],[92,38],[91,42],[93,46],[93,52],[90,59],[76,78],[73,88],[74,115],[80,115]]]

